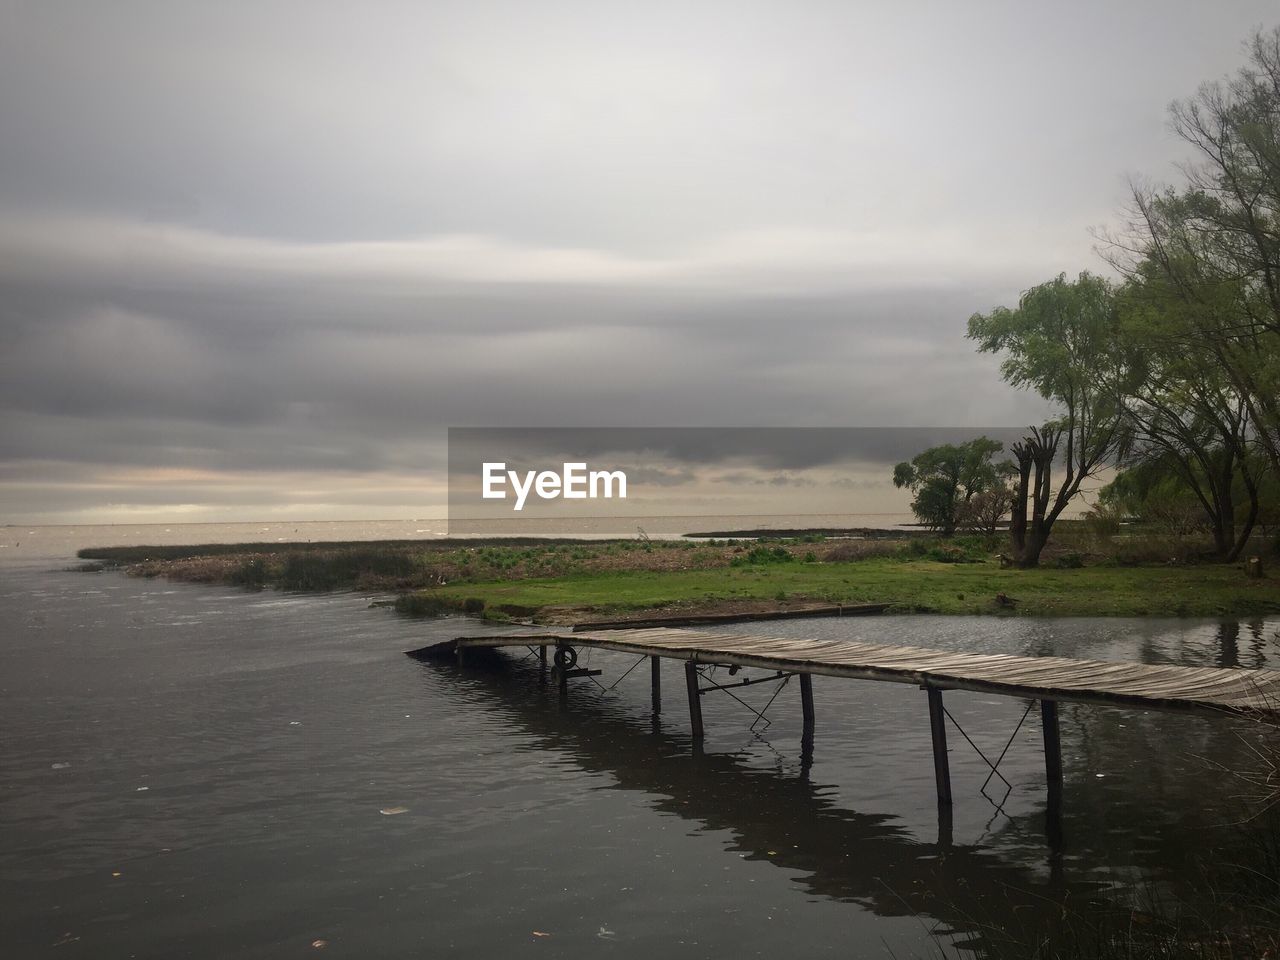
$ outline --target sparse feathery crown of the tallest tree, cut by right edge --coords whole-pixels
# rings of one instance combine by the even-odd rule
[[[1135,186],[1128,232],[1105,239],[1112,265],[1158,288],[1161,339],[1229,388],[1280,472],[1280,28],[1248,50],[1235,77],[1171,109],[1194,150],[1184,186]]]

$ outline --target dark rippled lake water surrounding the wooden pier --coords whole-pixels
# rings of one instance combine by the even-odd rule
[[[1055,858],[1034,712],[1001,765],[1002,806],[952,731],[947,824],[908,685],[817,678],[812,765],[794,684],[754,732],[733,700],[705,698],[695,750],[677,666],[655,721],[643,667],[611,691],[575,681],[562,703],[515,654],[465,669],[403,655],[495,630],[471,621],[60,566],[0,567],[4,956],[937,956],[1064,901],[1120,900],[1119,882],[1194,900],[1243,842],[1243,787],[1212,762],[1251,762],[1248,723],[1064,707]],[[751,628],[1280,666],[1275,620]],[[608,685],[634,662],[589,666]],[[1027,703],[947,705],[998,753]]]

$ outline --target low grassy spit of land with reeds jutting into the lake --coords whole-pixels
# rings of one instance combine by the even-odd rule
[[[640,612],[716,612],[797,602],[892,603],[899,612],[1002,616],[1265,616],[1280,580],[1238,564],[1140,563],[1061,553],[1002,570],[992,544],[828,541],[394,541],[110,548],[86,559],[140,576],[285,590],[398,593],[411,613],[448,609],[567,622]],[[1156,550],[1165,556],[1165,545]],[[1119,556],[1117,556],[1119,554]],[[1012,607],[997,595],[1012,598]]]

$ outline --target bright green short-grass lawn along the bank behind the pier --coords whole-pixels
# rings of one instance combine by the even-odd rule
[[[996,594],[1033,616],[1258,616],[1280,612],[1280,581],[1248,580],[1238,566],[1000,570],[989,563],[893,558],[849,563],[780,563],[669,572],[609,572],[518,581],[479,581],[430,594],[486,607],[504,604],[635,611],[672,603],[813,599],[893,603],[896,611],[997,613]]]

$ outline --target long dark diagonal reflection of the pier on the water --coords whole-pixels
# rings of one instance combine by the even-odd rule
[[[695,749],[678,723],[644,719],[617,701],[571,696],[561,701],[538,684],[535,664],[502,654],[448,672],[472,699],[488,692],[492,709],[532,740],[529,751],[556,751],[608,788],[635,791],[659,813],[727,833],[728,850],[794,872],[806,895],[856,902],[881,916],[922,916],[938,933],[978,934],[996,924],[1028,938],[1061,918],[1061,904],[1111,909],[1102,882],[1069,878],[1051,865],[1001,855],[993,846],[955,844],[950,818],[922,840],[891,813],[842,808],[835,785],[800,772],[760,769],[744,758]],[[1030,942],[1030,940],[1028,940]]]

